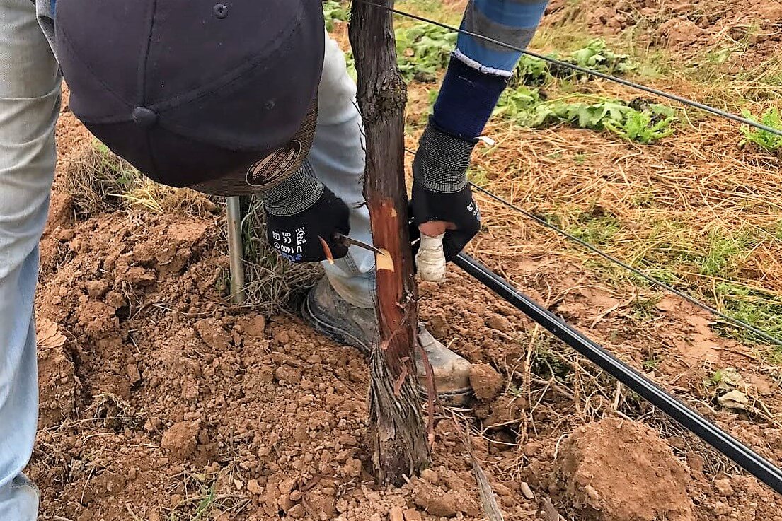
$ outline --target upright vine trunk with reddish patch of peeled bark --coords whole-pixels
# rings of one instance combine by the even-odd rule
[[[393,7],[393,0],[375,0]],[[418,292],[407,231],[404,184],[404,106],[407,91],[396,66],[393,19],[384,9],[353,2],[350,45],[358,73],[357,101],[364,120],[367,165],[364,196],[372,237],[386,249],[393,270],[378,269],[375,306],[380,340],[370,359],[370,419],[375,432],[373,462],[382,484],[404,484],[404,476],[429,463],[414,350],[418,346]]]

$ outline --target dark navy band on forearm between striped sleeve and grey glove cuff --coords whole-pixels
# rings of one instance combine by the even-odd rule
[[[474,141],[486,127],[507,83],[507,78],[482,73],[452,56],[432,123],[446,134]]]

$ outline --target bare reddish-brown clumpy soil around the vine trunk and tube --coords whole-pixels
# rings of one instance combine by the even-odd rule
[[[595,27],[632,23],[625,4],[604,2]],[[698,25],[692,13],[715,5],[723,2],[676,7],[658,34],[679,45],[672,35],[687,31],[676,24]],[[673,8],[634,2],[637,9]],[[698,28],[719,32],[719,20],[760,12],[750,9],[777,28],[782,16],[758,2],[725,9]],[[773,41],[759,41],[759,54]],[[27,469],[41,488],[41,519],[484,519],[472,451],[505,519],[782,521],[777,494],[455,268],[442,287],[421,285],[421,316],[475,363],[475,400],[437,414],[432,467],[420,478],[377,487],[361,354],[292,314],[264,317],[227,303],[220,212],[76,219],[63,165],[91,137],[66,105],[57,134],[63,162],[36,301],[40,429]],[[653,300],[656,318],[638,321],[636,304],[651,291],[606,287],[529,230],[523,250],[500,252],[497,244],[518,243],[519,231],[504,210],[481,202],[490,230],[473,253],[782,462],[777,366],[719,336],[711,316],[678,298]],[[728,389],[711,380],[726,368],[737,375],[730,389],[748,397],[744,409],[719,404]]]

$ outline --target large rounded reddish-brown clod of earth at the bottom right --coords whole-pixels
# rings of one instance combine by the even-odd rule
[[[657,431],[606,418],[562,444],[559,476],[584,519],[693,521],[689,469]]]

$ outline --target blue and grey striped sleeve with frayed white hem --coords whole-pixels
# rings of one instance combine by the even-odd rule
[[[547,4],[548,0],[469,0],[461,28],[526,48],[535,35]],[[454,56],[484,73],[508,77],[521,53],[459,34]]]

